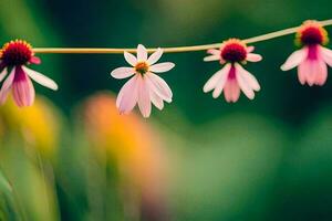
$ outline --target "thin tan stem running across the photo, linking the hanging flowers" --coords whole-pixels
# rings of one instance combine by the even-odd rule
[[[332,19],[320,21],[320,23],[323,27],[332,25]],[[262,34],[249,39],[242,40],[245,43],[256,43],[261,41],[267,41],[270,39],[288,35],[295,33],[298,31],[299,27],[284,29],[281,31],[271,32],[268,34]],[[208,49],[215,49],[219,48],[221,43],[215,43],[215,44],[204,44],[204,45],[195,45],[195,46],[177,46],[177,48],[163,48],[165,53],[178,53],[178,52],[194,52],[194,51],[206,51]],[[149,53],[156,51],[156,48],[148,49],[147,51]],[[33,49],[35,53],[56,53],[56,54],[122,54],[124,51],[135,53],[136,49],[64,49],[64,48],[38,48]]]

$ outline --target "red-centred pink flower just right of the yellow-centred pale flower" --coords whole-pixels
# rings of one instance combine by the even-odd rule
[[[220,96],[224,91],[227,102],[237,102],[240,91],[249,98],[255,98],[255,91],[259,91],[260,86],[256,77],[246,71],[241,64],[249,62],[259,62],[261,56],[251,53],[253,46],[247,46],[238,39],[225,41],[219,50],[208,50],[208,55],[204,61],[219,61],[225,66],[214,74],[204,85],[204,92],[212,92],[214,98]]]

